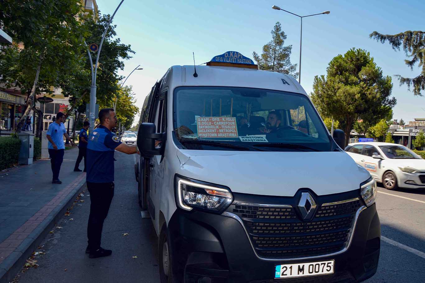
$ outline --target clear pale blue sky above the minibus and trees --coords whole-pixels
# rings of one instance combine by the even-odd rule
[[[97,3],[103,14],[112,14],[119,2]],[[300,19],[273,10],[273,5],[299,15],[331,11],[329,15],[303,19],[301,85],[307,93],[312,91],[314,76],[326,74],[333,57],[353,47],[363,48],[374,57],[384,75],[392,76],[392,95],[397,98],[393,118],[408,122],[425,117],[425,97],[414,96],[406,86],[400,87],[393,76],[414,77],[420,69],[411,71],[404,64],[403,51],[395,52],[389,44],[382,45],[368,36],[372,31],[396,34],[424,30],[425,8],[419,0],[125,0],[113,22],[118,37],[136,51],[120,74],[127,76],[139,64],[144,68],[135,71],[126,82],[133,85],[137,105],[142,106],[144,97],[170,66],[193,64],[192,52],[196,64],[208,62],[225,51],[238,51],[249,58],[252,51],[261,53],[278,21],[287,35],[285,45],[292,45],[291,62],[298,63]]]

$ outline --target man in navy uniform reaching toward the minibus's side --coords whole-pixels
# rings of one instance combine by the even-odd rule
[[[114,192],[113,153],[115,150],[127,154],[137,153],[137,146],[128,146],[119,141],[111,132],[116,126],[113,108],[99,111],[100,125],[90,133],[87,146],[87,188],[90,192],[90,216],[87,225],[88,246],[85,250],[89,258],[100,258],[112,254],[109,249],[102,249],[103,222],[108,215]]]

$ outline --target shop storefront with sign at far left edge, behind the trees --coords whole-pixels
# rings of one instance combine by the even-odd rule
[[[15,126],[15,116],[25,111],[25,99],[22,96],[0,91],[0,127],[10,130]]]

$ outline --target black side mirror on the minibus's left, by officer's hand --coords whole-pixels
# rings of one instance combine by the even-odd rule
[[[137,132],[137,148],[144,158],[161,155],[161,148],[155,148],[155,141],[164,142],[165,133],[156,133],[153,123],[142,123]]]

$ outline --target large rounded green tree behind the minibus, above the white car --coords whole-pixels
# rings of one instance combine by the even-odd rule
[[[348,144],[354,122],[374,125],[392,116],[391,77],[363,49],[352,48],[329,62],[327,75],[315,76],[311,98],[320,114],[341,123]]]

